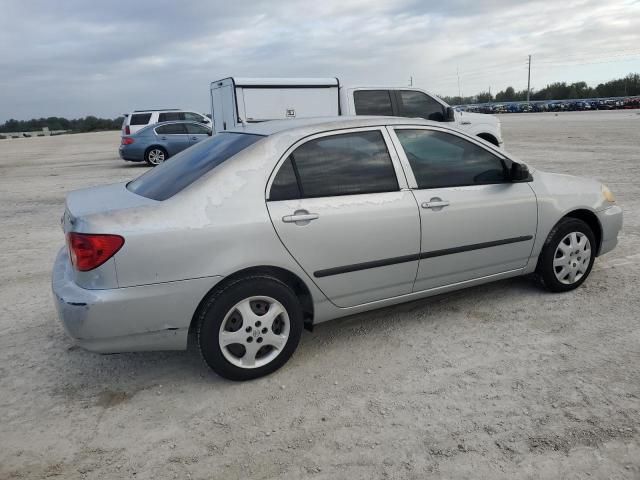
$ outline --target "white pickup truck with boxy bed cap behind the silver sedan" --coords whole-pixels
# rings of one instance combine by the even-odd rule
[[[503,146],[500,120],[457,111],[414,87],[347,87],[337,78],[239,78],[211,82],[214,132],[286,118],[388,115],[451,122],[472,135]]]

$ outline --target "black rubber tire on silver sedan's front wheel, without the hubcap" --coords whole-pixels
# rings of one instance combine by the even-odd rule
[[[587,237],[590,244],[591,249],[591,257],[589,260],[588,267],[582,276],[577,279],[574,283],[562,283],[555,272],[554,258],[556,255],[556,250],[560,245],[560,242],[570,233],[579,232]],[[542,247],[542,252],[540,252],[540,257],[538,258],[538,265],[536,267],[536,273],[538,278],[540,279],[542,285],[551,292],[568,292],[569,290],[573,290],[578,288],[580,285],[584,283],[589,274],[591,273],[591,268],[593,267],[593,262],[596,258],[597,244],[595,235],[593,231],[582,220],[577,218],[565,217],[560,220],[549,235],[547,236],[546,241],[544,242],[544,246]],[[560,268],[560,267],[558,267]]]

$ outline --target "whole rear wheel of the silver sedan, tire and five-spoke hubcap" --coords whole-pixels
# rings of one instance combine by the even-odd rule
[[[217,374],[249,380],[289,360],[302,326],[302,307],[286,284],[269,276],[248,277],[205,301],[198,318],[198,345]]]

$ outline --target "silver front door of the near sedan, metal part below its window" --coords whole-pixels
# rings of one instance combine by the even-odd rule
[[[415,291],[507,270],[529,260],[537,206],[527,183],[415,190],[422,223]],[[425,203],[448,202],[425,208]],[[437,205],[437,204],[436,204]]]

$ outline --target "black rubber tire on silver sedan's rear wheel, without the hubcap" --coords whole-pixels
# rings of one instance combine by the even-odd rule
[[[266,365],[240,367],[225,358],[219,343],[220,330],[222,322],[235,305],[255,296],[270,297],[284,307],[289,319],[289,337],[280,353]],[[303,313],[291,288],[276,278],[259,275],[240,278],[212,292],[203,303],[197,322],[198,347],[205,363],[221,377],[242,381],[273,373],[289,360],[302,335]],[[241,328],[244,329],[245,325],[241,325]]]

